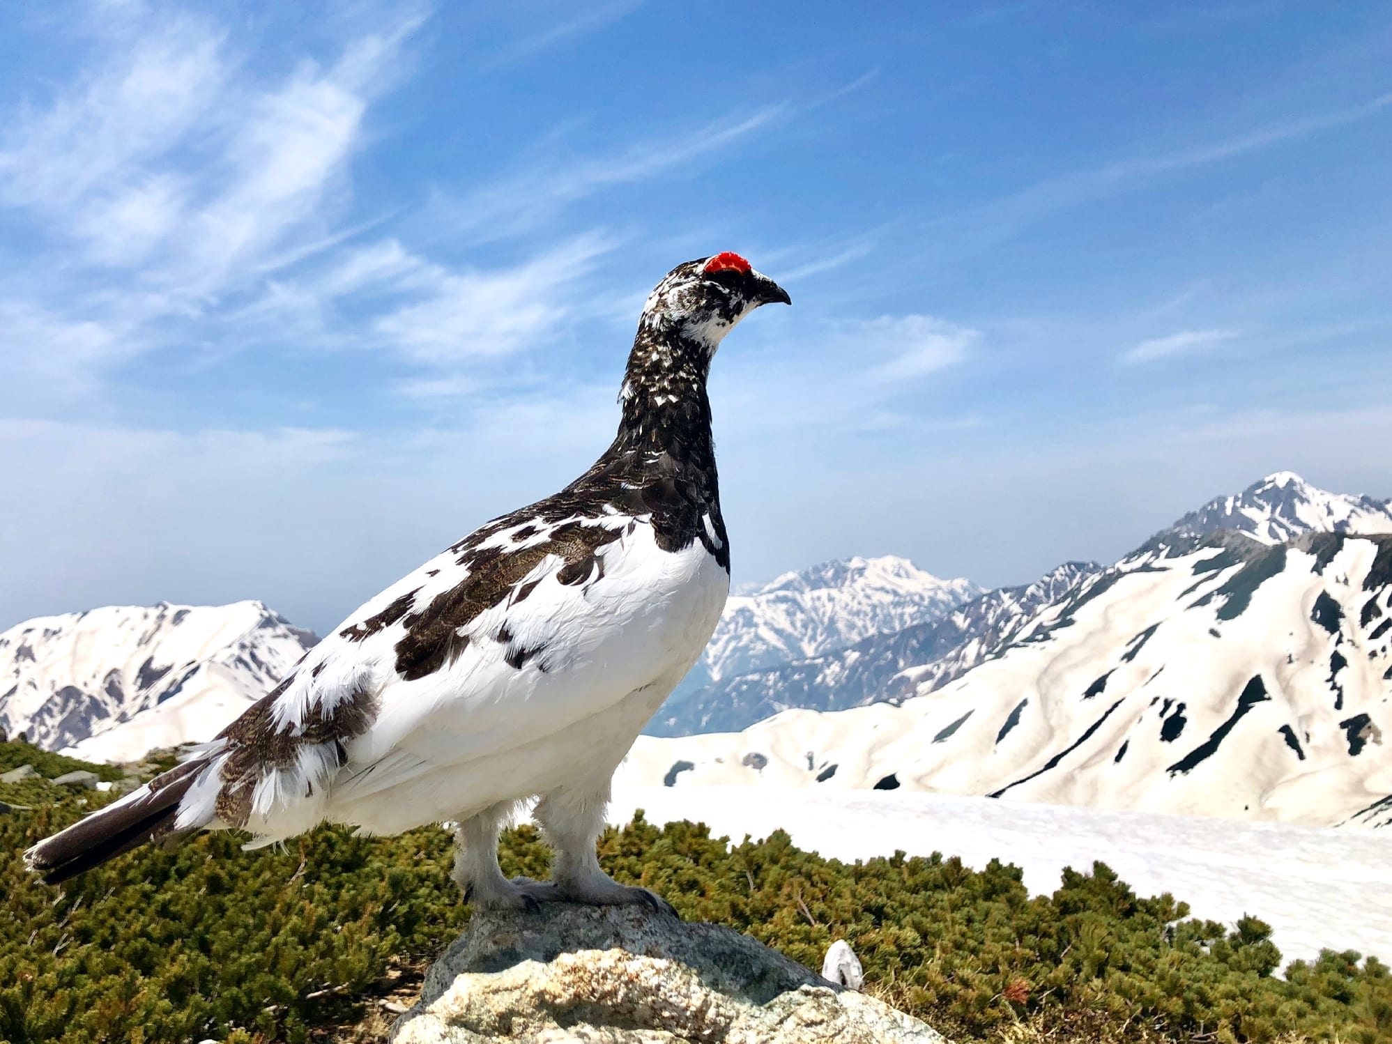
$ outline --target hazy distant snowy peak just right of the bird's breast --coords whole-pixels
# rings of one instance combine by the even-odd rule
[[[725,603],[692,675],[702,683],[844,649],[947,615],[984,593],[908,558],[846,558],[786,572]]]

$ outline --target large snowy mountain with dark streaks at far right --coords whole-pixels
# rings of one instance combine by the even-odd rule
[[[927,664],[899,706],[644,736],[621,778],[1392,824],[1392,516],[1290,475],[1214,504],[947,685]],[[1222,518],[1244,525],[1203,532]]]

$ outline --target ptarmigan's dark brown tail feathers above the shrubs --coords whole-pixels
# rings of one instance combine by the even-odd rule
[[[45,838],[24,853],[25,862],[43,874],[45,883],[60,884],[146,841],[189,832],[177,830],[174,820],[180,802],[207,764],[209,759],[196,757],[155,777],[121,800]]]

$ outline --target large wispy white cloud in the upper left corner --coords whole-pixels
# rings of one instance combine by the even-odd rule
[[[0,206],[42,244],[0,283],[0,312],[33,338],[29,377],[95,387],[141,351],[231,335],[291,298],[306,320],[319,303],[267,270],[330,249],[363,116],[418,26],[393,13],[335,61],[277,77],[206,19],[93,13],[97,64],[0,113]]]

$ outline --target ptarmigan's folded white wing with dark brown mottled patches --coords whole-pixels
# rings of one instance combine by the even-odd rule
[[[604,710],[704,643],[672,628],[704,557],[660,550],[644,518],[617,511],[486,525],[354,612],[207,745],[213,771],[180,824],[290,837],[330,792],[351,803],[355,788]]]

